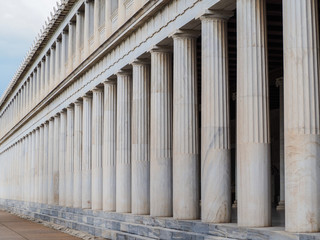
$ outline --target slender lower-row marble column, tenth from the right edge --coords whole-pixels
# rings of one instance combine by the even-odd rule
[[[82,208],[91,208],[92,97],[83,97]]]

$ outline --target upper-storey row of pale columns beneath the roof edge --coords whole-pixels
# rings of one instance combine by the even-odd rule
[[[119,2],[119,3],[118,3]],[[0,112],[0,123],[14,127],[94,52],[147,0],[84,0],[84,7],[33,64],[18,90]],[[112,20],[116,16],[117,21]],[[0,132],[3,137],[6,132]]]

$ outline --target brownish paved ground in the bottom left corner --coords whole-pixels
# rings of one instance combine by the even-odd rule
[[[79,238],[0,211],[0,240],[77,240]]]

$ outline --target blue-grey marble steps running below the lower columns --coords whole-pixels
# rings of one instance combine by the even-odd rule
[[[243,228],[0,199],[0,208],[111,239],[320,240],[320,233],[294,234],[283,227]]]

